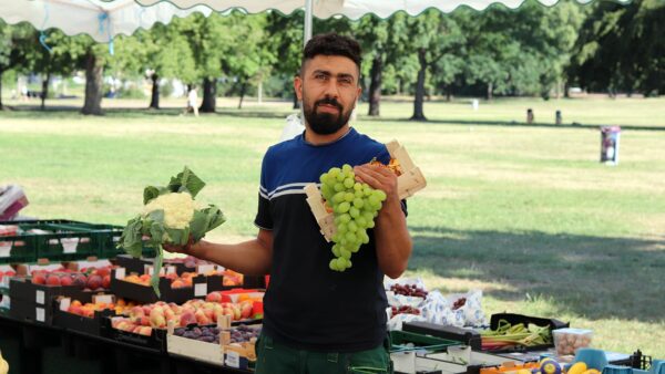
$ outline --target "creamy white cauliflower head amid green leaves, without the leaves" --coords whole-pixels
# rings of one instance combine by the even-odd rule
[[[196,204],[188,193],[171,193],[160,195],[143,208],[147,216],[155,210],[164,210],[164,226],[172,229],[184,229],[190,226]]]

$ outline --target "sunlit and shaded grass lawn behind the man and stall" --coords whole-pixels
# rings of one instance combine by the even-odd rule
[[[20,105],[0,113],[0,184],[23,186],[23,215],[121,225],[145,185],[188,165],[208,183],[202,198],[228,217],[213,238],[255,235],[260,159],[290,104],[236,110],[222,100],[198,118],[178,116],[181,101],[126,108],[146,103],[105,101],[103,117]],[[533,126],[523,124],[528,107]],[[399,139],[428,178],[409,201],[408,276],[442,292],[482,289],[488,314],[570,320],[593,329],[596,346],[665,359],[663,107],[663,98],[587,97],[498,100],[473,112],[469,101],[432,102],[430,122],[412,123],[411,104],[395,100],[355,126]],[[556,110],[563,126],[553,125]],[[623,127],[614,167],[598,163],[606,124]]]

